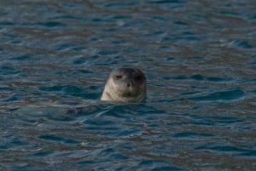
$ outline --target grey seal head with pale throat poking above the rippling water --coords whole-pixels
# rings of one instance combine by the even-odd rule
[[[136,67],[122,66],[110,72],[101,100],[137,103],[146,99],[146,77]]]

